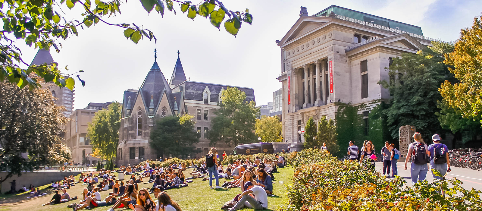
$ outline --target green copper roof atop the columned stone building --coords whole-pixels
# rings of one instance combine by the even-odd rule
[[[350,10],[350,9],[335,6],[335,5],[329,6],[328,8],[322,10],[320,13],[316,13],[314,16],[328,16],[332,11],[335,14],[338,14],[338,15],[341,15],[341,16],[354,18],[354,19],[361,20],[361,21],[368,22],[368,23],[372,23],[372,21],[373,21],[373,24],[376,24],[376,25],[387,26],[387,27],[390,27],[390,28],[393,28],[393,29],[399,29],[399,30],[402,30],[402,31],[406,31],[406,32],[410,32],[410,33],[414,33],[414,34],[423,36],[422,28],[420,28],[419,26],[404,24],[402,22],[398,22],[398,21],[387,19],[387,18],[382,18],[382,17],[378,17],[378,16],[375,16],[375,15]]]

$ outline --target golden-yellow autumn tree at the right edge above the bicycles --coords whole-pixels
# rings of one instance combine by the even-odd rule
[[[443,99],[463,117],[482,122],[482,16],[474,18],[472,27],[460,30],[454,51],[445,54],[443,63],[454,66],[449,70],[459,80],[442,83]]]

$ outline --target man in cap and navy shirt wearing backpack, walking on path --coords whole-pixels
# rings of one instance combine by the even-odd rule
[[[432,141],[433,144],[428,146],[430,167],[431,169],[440,171],[443,176],[447,171],[450,171],[449,149],[446,145],[440,143],[440,136],[438,134],[432,135]],[[434,172],[432,172],[432,175],[434,179],[442,179],[442,177],[436,176]]]

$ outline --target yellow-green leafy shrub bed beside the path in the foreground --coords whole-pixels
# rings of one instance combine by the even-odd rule
[[[296,153],[294,183],[281,211],[480,211],[481,191],[456,179],[403,186],[351,160],[340,161],[319,149]],[[440,194],[441,190],[445,195]]]

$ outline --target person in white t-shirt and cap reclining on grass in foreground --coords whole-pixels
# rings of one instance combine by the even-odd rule
[[[237,211],[245,206],[254,210],[268,209],[268,195],[263,187],[246,182],[244,189],[246,191],[241,193],[240,200],[229,211]],[[250,194],[253,194],[254,197],[250,196]],[[245,202],[248,202],[249,205]]]

